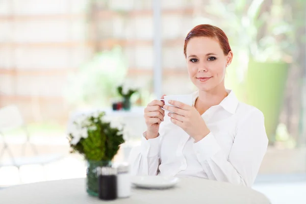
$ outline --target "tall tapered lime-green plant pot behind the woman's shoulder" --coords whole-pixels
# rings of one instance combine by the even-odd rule
[[[281,112],[288,64],[250,61],[246,78],[246,103],[261,110],[269,144],[275,141],[275,131]]]

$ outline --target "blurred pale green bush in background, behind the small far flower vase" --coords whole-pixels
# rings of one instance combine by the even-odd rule
[[[89,62],[68,77],[65,97],[70,105],[108,107],[118,96],[116,87],[122,83],[127,63],[119,46],[97,53]]]

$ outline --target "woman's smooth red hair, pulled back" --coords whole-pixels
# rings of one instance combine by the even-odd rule
[[[185,44],[184,44],[185,57],[186,57],[186,48],[188,41],[193,37],[211,37],[218,39],[224,55],[227,55],[232,50],[230,43],[228,43],[227,36],[221,29],[210,24],[200,24],[194,27],[187,34],[185,38]]]

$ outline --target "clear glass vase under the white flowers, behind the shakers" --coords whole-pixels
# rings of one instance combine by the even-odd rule
[[[112,166],[111,161],[87,161],[86,191],[91,196],[98,196],[99,182],[97,167]]]

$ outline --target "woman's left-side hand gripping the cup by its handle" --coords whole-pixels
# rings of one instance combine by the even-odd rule
[[[165,117],[165,111],[162,109],[164,105],[163,101],[152,100],[144,109],[144,119],[147,125],[146,139],[152,139],[158,136],[160,123],[164,121]]]

